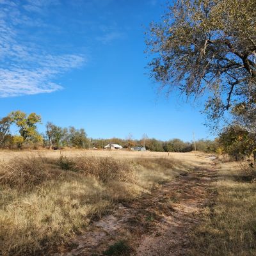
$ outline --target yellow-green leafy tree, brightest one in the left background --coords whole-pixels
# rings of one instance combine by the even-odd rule
[[[20,136],[23,138],[22,143],[42,142],[42,137],[36,131],[36,125],[41,122],[40,115],[36,113],[26,115],[22,111],[13,111],[8,118],[19,128]]]

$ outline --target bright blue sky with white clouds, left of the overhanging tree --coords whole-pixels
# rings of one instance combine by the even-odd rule
[[[157,94],[144,32],[165,0],[0,0],[0,116],[20,109],[92,138],[212,138],[200,102]]]

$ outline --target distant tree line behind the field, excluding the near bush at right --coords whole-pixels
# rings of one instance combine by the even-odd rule
[[[37,125],[41,124],[41,116],[36,113],[27,115],[22,111],[13,111],[0,119],[0,148],[52,148],[61,149],[70,148],[95,148],[102,149],[108,143],[115,143],[124,148],[142,146],[150,151],[158,152],[190,152],[193,150],[193,143],[184,142],[178,138],[161,141],[155,138],[148,138],[143,135],[141,140],[134,140],[132,136],[127,139],[109,138],[109,139],[91,139],[88,138],[84,129],[76,129],[73,126],[60,127],[47,122],[45,132],[39,133]],[[11,127],[15,125],[18,134],[11,133]],[[216,150],[216,141],[198,140],[197,149],[205,152],[214,152]]]

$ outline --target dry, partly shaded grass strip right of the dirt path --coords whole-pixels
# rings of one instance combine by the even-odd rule
[[[256,255],[256,182],[237,163],[220,163],[216,199],[202,211],[190,255]],[[247,178],[246,178],[247,177]]]

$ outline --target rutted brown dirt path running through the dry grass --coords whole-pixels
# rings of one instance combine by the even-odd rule
[[[209,199],[216,163],[202,157],[200,168],[181,173],[150,195],[118,206],[113,214],[94,221],[74,239],[74,248],[55,256],[102,255],[116,241],[128,241],[133,256],[187,255],[189,232],[198,223],[196,213]]]

